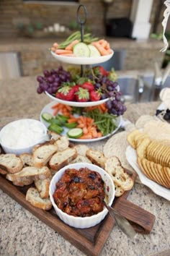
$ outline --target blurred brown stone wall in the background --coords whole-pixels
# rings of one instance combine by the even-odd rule
[[[130,17],[130,10],[133,0],[114,0],[109,7],[107,17]],[[151,12],[151,23],[155,18],[156,8],[159,0],[153,1]],[[92,33],[104,35],[104,6],[102,0],[80,0],[88,10],[87,25]],[[50,4],[23,4],[22,0],[1,0],[0,1],[0,35],[3,37],[16,37],[17,29],[14,23],[17,20],[30,20],[30,22],[42,22],[42,25],[52,25],[59,22],[68,25],[76,21],[76,10],[78,5],[50,5]]]

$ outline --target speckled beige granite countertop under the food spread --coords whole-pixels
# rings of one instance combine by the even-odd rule
[[[40,111],[50,103],[50,98],[37,95],[36,88],[35,77],[0,81],[0,127],[22,117],[39,119]],[[159,102],[131,104],[125,117],[135,121],[141,114],[153,115],[158,105]],[[91,143],[91,148],[102,150],[105,142]],[[131,241],[115,226],[101,255],[170,255],[169,201],[154,194],[143,184],[135,184],[128,200],[156,216],[153,230],[148,235],[137,234]],[[0,205],[0,255],[84,255],[1,189]]]

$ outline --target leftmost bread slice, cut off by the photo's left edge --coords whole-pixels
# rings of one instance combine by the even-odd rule
[[[22,170],[22,160],[15,154],[1,154],[0,168],[10,174],[15,174]]]

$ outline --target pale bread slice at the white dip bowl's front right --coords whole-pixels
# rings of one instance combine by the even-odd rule
[[[35,167],[40,168],[45,166],[57,150],[57,145],[42,145],[41,147],[37,148],[37,150],[35,150],[33,153],[33,162]]]

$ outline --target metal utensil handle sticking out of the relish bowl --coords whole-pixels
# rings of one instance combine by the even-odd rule
[[[133,226],[130,225],[130,223],[127,221],[126,218],[124,218],[120,213],[117,213],[116,210],[114,210],[112,207],[107,205],[107,203],[104,201],[104,206],[109,211],[110,216],[115,219],[117,226],[122,230],[123,233],[125,233],[130,239],[133,239],[136,235],[135,230],[133,229]]]

